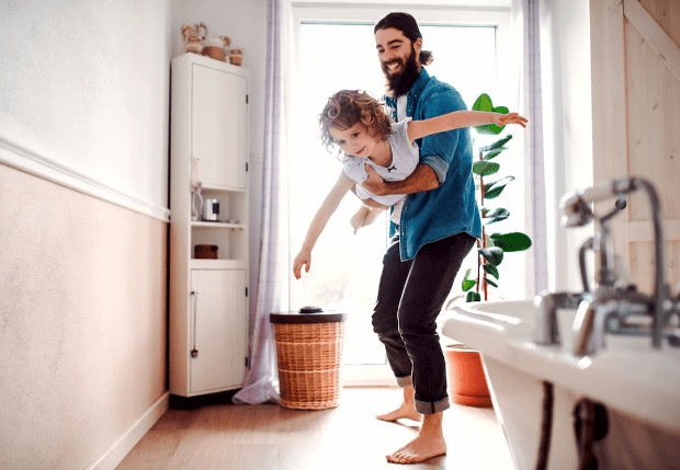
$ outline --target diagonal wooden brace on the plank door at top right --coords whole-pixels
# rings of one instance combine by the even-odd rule
[[[623,1],[623,14],[641,36],[680,80],[680,49],[637,0]]]

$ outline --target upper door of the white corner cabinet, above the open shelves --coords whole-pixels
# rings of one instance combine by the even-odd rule
[[[192,157],[203,185],[246,187],[246,78],[194,64],[192,83]]]

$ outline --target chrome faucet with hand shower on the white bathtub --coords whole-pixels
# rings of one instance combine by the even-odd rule
[[[611,236],[611,219],[625,207],[625,195],[644,190],[651,206],[655,245],[655,288],[651,296],[637,291],[623,279],[616,265]],[[591,204],[616,197],[615,208],[604,216],[597,216]],[[591,355],[605,346],[605,333],[650,335],[651,345],[661,347],[665,337],[671,345],[680,345],[680,299],[671,299],[664,282],[664,237],[659,198],[654,186],[638,177],[619,179],[583,192],[567,194],[562,200],[563,225],[582,227],[594,220],[596,236],[586,240],[579,250],[579,265],[583,291],[580,294],[546,294],[536,299],[534,341],[539,344],[559,344],[556,331],[556,310],[559,307],[577,308],[574,321],[574,349],[576,356]],[[596,289],[590,291],[586,270],[586,252],[599,254]],[[576,305],[576,306],[575,306]],[[672,332],[665,333],[665,328]]]

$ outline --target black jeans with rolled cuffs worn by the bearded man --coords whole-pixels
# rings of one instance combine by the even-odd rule
[[[422,414],[449,408],[437,317],[475,240],[458,233],[426,244],[412,260],[403,262],[397,236],[383,259],[373,330],[385,345],[399,386],[412,383],[416,409]]]

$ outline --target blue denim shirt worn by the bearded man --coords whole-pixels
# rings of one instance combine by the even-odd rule
[[[396,102],[385,98],[395,115]],[[407,95],[406,115],[427,119],[453,111],[466,110],[463,99],[450,84],[430,77],[424,68]],[[426,243],[467,232],[481,237],[481,219],[473,177],[473,149],[469,129],[454,129],[417,140],[420,163],[437,173],[439,187],[409,194],[399,222],[399,254],[410,260]],[[390,237],[397,227],[390,222]]]

